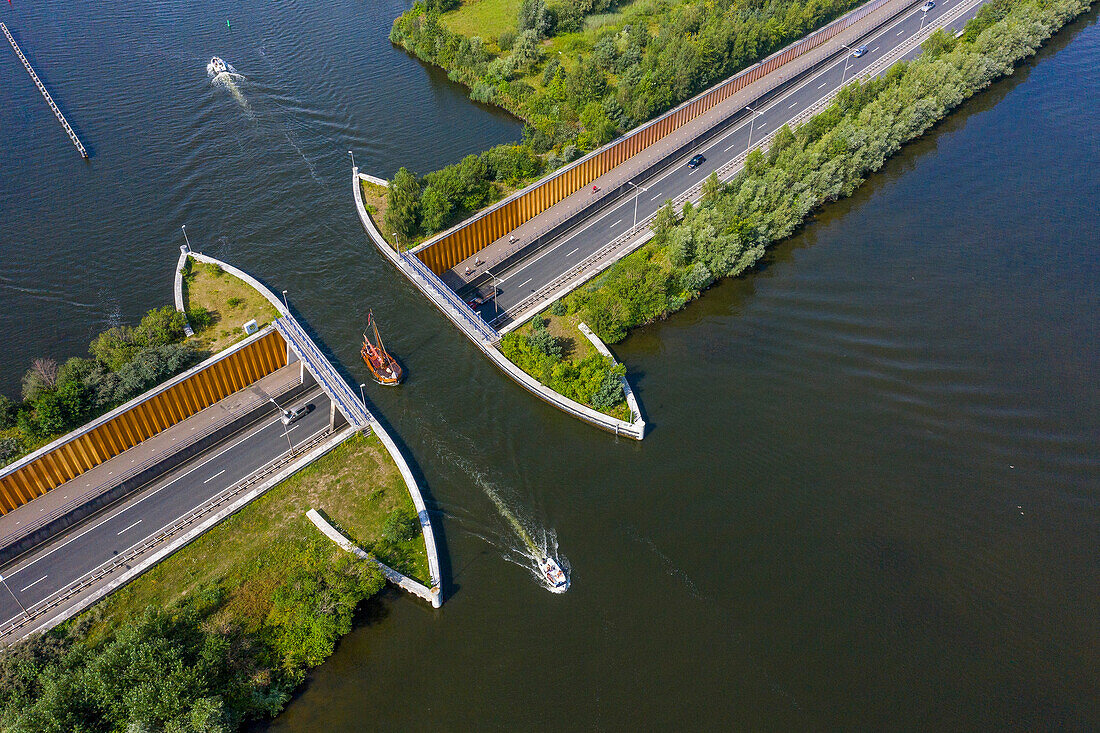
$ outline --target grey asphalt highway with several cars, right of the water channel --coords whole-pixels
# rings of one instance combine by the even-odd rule
[[[515,308],[524,298],[579,265],[585,258],[615,238],[630,231],[636,216],[638,221],[644,220],[657,211],[666,200],[675,198],[737,155],[745,153],[749,145],[758,142],[761,136],[774,132],[800,112],[839,88],[844,83],[850,81],[854,76],[875,64],[883,54],[904,43],[924,26],[936,24],[945,13],[950,12],[964,1],[936,0],[936,7],[927,12],[914,6],[861,41],[860,44],[867,46],[867,53],[859,58],[846,53],[807,76],[790,81],[787,88],[778,92],[770,92],[763,103],[759,107],[752,106],[754,112],[749,112],[748,109],[743,110],[741,121],[735,123],[721,136],[693,150],[679,164],[666,168],[663,173],[659,173],[641,184],[645,190],[639,190],[635,196],[627,197],[609,209],[594,215],[590,221],[579,223],[562,237],[534,252],[525,260],[513,264],[507,270],[495,272],[498,286],[496,303],[490,300],[480,306],[477,311],[482,318],[497,328],[507,325],[509,309]],[[980,4],[975,6],[959,19],[953,21],[950,30],[961,29],[966,21],[978,11],[978,8]],[[920,46],[903,57],[911,58],[919,54]],[[706,161],[698,167],[691,168],[688,166],[688,161],[696,153],[702,153]],[[552,217],[552,214],[547,211],[541,216]],[[487,285],[487,281],[485,284]],[[463,288],[460,295],[469,297],[473,289],[472,286]],[[483,289],[488,292],[488,287]]]

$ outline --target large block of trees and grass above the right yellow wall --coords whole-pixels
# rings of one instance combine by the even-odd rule
[[[502,180],[534,180],[860,2],[420,0],[391,41],[524,119],[522,144],[502,147],[534,163],[502,177],[490,151],[422,178],[403,171],[387,230],[407,243],[442,231],[501,198]]]

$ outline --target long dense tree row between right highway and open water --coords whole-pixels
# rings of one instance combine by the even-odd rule
[[[656,236],[571,294],[605,341],[678,310],[721,277],[745,272],[822,204],[850,195],[906,141],[994,79],[1011,74],[1090,0],[992,0],[959,39],[937,31],[923,53],[884,76],[853,83],[806,123],[783,127],[728,184],[712,176],[698,206],[671,205]]]

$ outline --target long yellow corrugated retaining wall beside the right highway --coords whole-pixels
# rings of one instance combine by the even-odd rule
[[[416,251],[428,267],[441,275],[466,258],[473,256],[488,244],[504,237],[519,225],[535,218],[571,194],[584,188],[615,166],[637,155],[658,140],[684,123],[725,101],[748,85],[771,74],[780,66],[816,48],[853,23],[866,18],[892,0],[873,0],[862,8],[834,21],[776,56],[757,64],[736,76],[712,87],[676,109],[667,112],[626,136],[608,143],[573,165],[558,171],[549,178],[515,194],[512,198],[468,219],[436,241],[429,241]]]

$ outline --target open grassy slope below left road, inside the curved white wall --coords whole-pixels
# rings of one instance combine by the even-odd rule
[[[212,622],[263,628],[294,568],[346,555],[306,518],[310,508],[389,567],[431,584],[416,507],[396,463],[376,436],[355,436],[108,598],[94,635],[211,587],[226,591]],[[415,536],[402,534],[411,524]],[[384,536],[386,528],[400,536]]]

